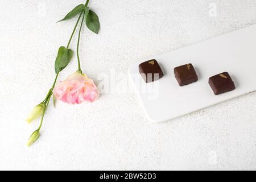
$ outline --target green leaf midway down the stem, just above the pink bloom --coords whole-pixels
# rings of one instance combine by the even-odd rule
[[[62,71],[73,57],[73,51],[71,49],[67,49],[64,46],[59,48],[58,55],[55,60],[55,72],[57,73],[59,70]]]

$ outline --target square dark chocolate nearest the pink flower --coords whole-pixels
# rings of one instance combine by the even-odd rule
[[[158,61],[154,59],[140,64],[139,73],[141,73],[141,76],[146,83],[159,80],[164,76]]]

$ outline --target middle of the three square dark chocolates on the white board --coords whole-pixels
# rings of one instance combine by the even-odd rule
[[[192,64],[185,64],[174,68],[174,75],[180,86],[192,84],[198,80]]]

